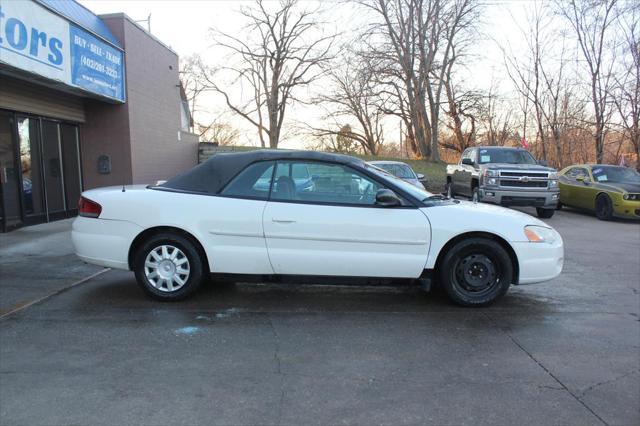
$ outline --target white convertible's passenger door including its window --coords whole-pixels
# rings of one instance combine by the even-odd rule
[[[311,189],[291,184],[287,170],[304,163]],[[417,278],[427,259],[430,227],[414,206],[381,207],[384,185],[345,165],[278,161],[263,215],[277,274]]]

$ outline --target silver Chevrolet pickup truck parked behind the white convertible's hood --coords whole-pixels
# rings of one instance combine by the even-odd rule
[[[447,166],[447,195],[502,206],[532,206],[550,218],[558,205],[558,172],[521,148],[479,146]]]

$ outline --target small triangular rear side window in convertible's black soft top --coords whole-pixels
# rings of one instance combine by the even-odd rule
[[[220,194],[238,198],[266,200],[269,198],[273,167],[273,161],[250,164],[234,177]]]

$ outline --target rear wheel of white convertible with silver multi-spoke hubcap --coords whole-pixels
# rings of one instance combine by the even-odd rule
[[[160,233],[139,247],[133,270],[138,285],[148,295],[173,302],[189,297],[208,277],[203,260],[204,256],[189,238]]]

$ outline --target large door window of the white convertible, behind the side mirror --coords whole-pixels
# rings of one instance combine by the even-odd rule
[[[279,161],[271,199],[374,205],[382,186],[356,170],[331,163]]]

